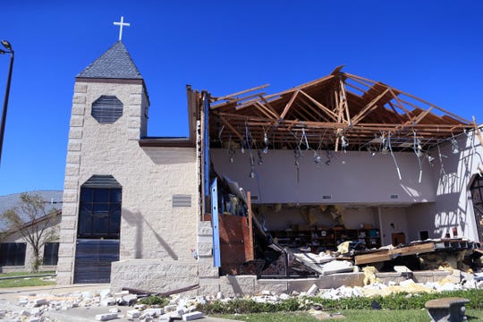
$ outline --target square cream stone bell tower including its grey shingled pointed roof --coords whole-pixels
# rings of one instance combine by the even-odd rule
[[[109,282],[110,262],[119,260],[123,184],[135,167],[126,160],[140,153],[148,106],[144,80],[121,39],[76,76],[57,283]],[[101,274],[89,279],[89,269]]]

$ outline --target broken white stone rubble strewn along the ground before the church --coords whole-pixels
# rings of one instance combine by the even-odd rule
[[[411,273],[405,267],[398,267],[403,273]],[[320,289],[316,284],[307,288],[306,292],[276,293],[263,291],[258,295],[245,297],[256,302],[277,303],[291,298],[299,298],[301,309],[310,309],[314,314],[322,314],[321,308],[314,309],[314,303],[310,297],[338,300],[350,297],[369,297],[375,295],[386,296],[394,292],[444,292],[470,289],[483,289],[481,274],[468,274],[454,270],[452,275],[438,282],[416,283],[411,275],[403,280],[395,282],[391,279],[375,278],[378,273],[374,269],[366,269],[369,278],[364,286],[341,286],[334,289]],[[2,305],[0,309],[0,321],[59,321],[52,313],[70,312],[72,309],[97,308],[99,311],[95,319],[97,321],[109,321],[122,319],[129,321],[173,321],[174,319],[191,321],[204,318],[202,312],[197,310],[199,304],[209,301],[233,301],[234,297],[225,297],[222,292],[214,296],[205,297],[184,297],[182,295],[171,295],[169,304],[161,308],[159,306],[148,306],[138,301],[142,296],[131,294],[127,291],[110,292],[109,290],[72,292],[72,293],[30,293],[25,296],[18,296],[15,302],[10,305]],[[121,310],[120,308],[123,308]]]

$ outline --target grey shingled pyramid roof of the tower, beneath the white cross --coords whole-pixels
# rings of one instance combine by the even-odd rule
[[[116,41],[94,63],[80,72],[76,78],[142,80],[121,40]]]

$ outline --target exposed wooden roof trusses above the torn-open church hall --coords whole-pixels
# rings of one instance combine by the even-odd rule
[[[210,137],[257,148],[431,148],[476,123],[419,97],[351,73],[329,75],[267,95],[268,85],[212,97]],[[307,147],[305,147],[307,146]]]

